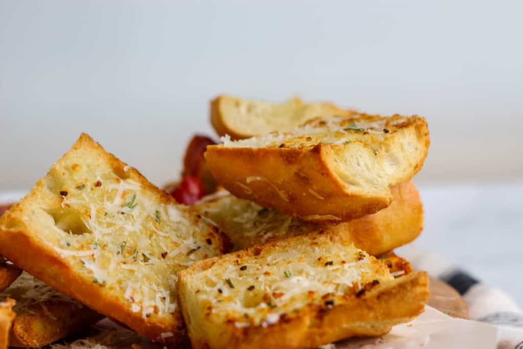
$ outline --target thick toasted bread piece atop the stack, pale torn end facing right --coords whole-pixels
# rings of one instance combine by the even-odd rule
[[[217,181],[237,197],[314,221],[357,219],[390,205],[390,187],[423,166],[418,116],[317,118],[290,132],[209,145]]]

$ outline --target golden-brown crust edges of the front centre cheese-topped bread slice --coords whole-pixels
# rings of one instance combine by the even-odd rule
[[[303,243],[306,239],[310,238],[300,237],[288,241],[292,245]],[[215,263],[248,264],[248,257],[258,255],[261,250],[270,250],[274,244],[273,242],[197,262],[179,273],[179,296],[184,305],[184,318],[193,348],[313,348],[355,335],[382,335],[389,332],[393,325],[407,322],[424,311],[428,299],[428,275],[425,272],[410,273],[412,268],[408,268],[410,265],[405,261],[407,265],[402,266],[404,274],[400,277],[371,288],[360,296],[353,295],[346,302],[333,307],[325,308],[311,303],[289,317],[280,317],[274,324],[237,327],[234,321],[202,324],[201,320],[191,319],[188,307],[195,306],[189,300],[190,292],[194,290],[187,287],[191,274],[204,272]],[[400,263],[401,258],[396,258]],[[206,330],[209,325],[213,327],[212,331]]]

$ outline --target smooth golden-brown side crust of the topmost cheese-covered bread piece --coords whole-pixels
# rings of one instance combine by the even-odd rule
[[[390,197],[347,195],[324,161],[326,151],[322,144],[306,151],[290,148],[231,151],[210,146],[205,155],[212,174],[229,192],[264,207],[276,207],[293,217],[336,222],[376,213],[390,205]],[[249,177],[266,180],[246,183]],[[322,184],[322,198],[308,190],[314,190],[313,183],[314,187]]]

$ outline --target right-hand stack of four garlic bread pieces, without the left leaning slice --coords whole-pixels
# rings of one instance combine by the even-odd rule
[[[223,189],[195,208],[235,252],[179,274],[193,347],[312,348],[422,312],[427,274],[387,252],[423,229],[425,119],[329,105],[295,125],[289,103],[224,100],[211,104],[223,143],[205,154]]]

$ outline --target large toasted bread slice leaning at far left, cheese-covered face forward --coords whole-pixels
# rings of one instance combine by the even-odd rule
[[[168,345],[184,334],[176,273],[223,251],[215,227],[87,134],[0,219],[9,260]]]

